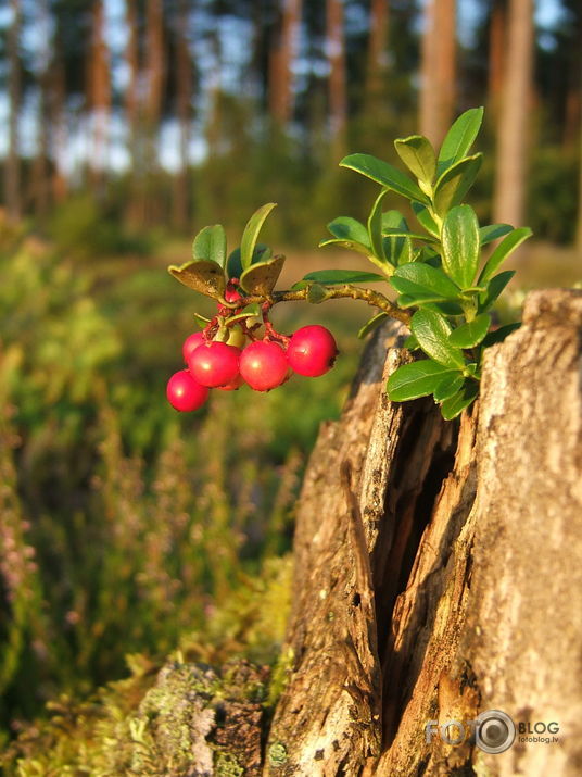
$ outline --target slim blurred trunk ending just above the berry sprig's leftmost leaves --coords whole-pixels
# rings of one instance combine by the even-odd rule
[[[180,167],[174,177],[173,216],[178,229],[186,229],[190,212],[190,122],[192,112],[192,61],[188,47],[187,0],[178,0],[176,14],[176,90],[180,125]]]

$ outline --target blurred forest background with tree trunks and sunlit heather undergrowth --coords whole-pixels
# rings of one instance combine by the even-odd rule
[[[177,648],[276,660],[301,474],[366,312],[278,312],[330,324],[338,366],[178,416],[198,300],[165,265],[198,229],[233,247],[274,201],[291,279],[353,265],[315,249],[374,197],[342,155],[397,163],[393,138],[483,104],[472,204],[535,233],[509,305],[580,281],[582,7],[4,0],[0,78],[1,745]]]

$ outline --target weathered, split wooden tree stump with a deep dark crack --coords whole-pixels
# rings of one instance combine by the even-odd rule
[[[582,292],[529,296],[457,422],[388,401],[405,334],[377,330],[311,458],[264,774],[580,774]],[[505,752],[440,736],[488,710]]]

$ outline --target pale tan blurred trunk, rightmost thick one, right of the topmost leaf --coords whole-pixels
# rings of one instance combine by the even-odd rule
[[[510,0],[497,125],[494,221],[523,222],[531,134],[533,0]]]

